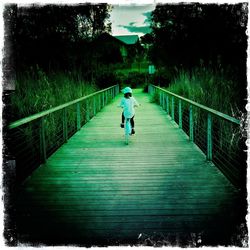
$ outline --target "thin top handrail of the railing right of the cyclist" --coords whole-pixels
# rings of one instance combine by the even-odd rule
[[[222,112],[220,112],[220,111],[217,111],[217,110],[215,110],[215,109],[211,109],[211,108],[209,108],[209,107],[207,107],[207,106],[204,106],[204,105],[202,105],[202,104],[200,104],[200,103],[197,103],[197,102],[194,102],[194,101],[192,101],[192,100],[189,100],[189,99],[187,99],[187,98],[185,98],[185,97],[179,96],[179,95],[177,95],[177,94],[175,94],[175,93],[172,93],[172,92],[170,92],[170,91],[168,91],[168,90],[165,90],[165,89],[163,89],[163,88],[161,88],[161,87],[155,86],[155,85],[153,85],[153,84],[152,84],[152,86],[155,87],[156,89],[159,89],[159,90],[161,90],[161,91],[163,91],[163,92],[169,94],[169,95],[172,95],[172,96],[174,96],[174,97],[177,97],[177,98],[181,99],[181,100],[184,101],[184,102],[187,102],[187,103],[189,103],[189,104],[191,104],[191,105],[193,105],[193,106],[196,106],[196,107],[198,107],[198,108],[201,108],[201,109],[203,109],[203,110],[205,110],[205,111],[207,111],[207,112],[209,112],[209,113],[211,113],[211,114],[213,114],[213,115],[219,116],[219,117],[223,118],[224,120],[227,120],[227,121],[233,122],[233,123],[235,123],[235,124],[237,124],[237,125],[240,125],[240,120],[238,120],[238,119],[236,119],[236,118],[234,118],[234,117],[231,117],[231,116],[229,116],[229,115],[227,115],[227,114],[224,114],[224,113],[222,113]]]

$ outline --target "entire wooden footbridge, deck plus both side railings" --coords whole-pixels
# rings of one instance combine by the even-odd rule
[[[150,85],[149,93],[134,91],[141,106],[125,145],[121,97],[113,86],[9,125],[17,241],[237,242],[240,121]]]

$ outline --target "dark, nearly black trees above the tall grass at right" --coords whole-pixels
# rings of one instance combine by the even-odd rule
[[[246,71],[247,4],[157,5],[152,13],[150,58],[157,66],[191,70],[233,65]]]

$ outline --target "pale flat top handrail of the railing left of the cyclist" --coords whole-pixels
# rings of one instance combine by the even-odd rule
[[[107,90],[109,90],[109,89],[112,89],[112,88],[116,87],[117,85],[118,85],[118,84],[113,85],[113,86],[111,86],[111,87],[108,87],[108,88],[106,88],[106,89],[102,89],[102,90],[100,90],[100,91],[94,92],[94,93],[92,93],[92,94],[83,96],[83,97],[81,97],[81,98],[75,99],[75,100],[73,100],[73,101],[70,101],[70,102],[61,104],[61,105],[56,106],[56,107],[54,107],[54,108],[47,109],[47,110],[45,110],[45,111],[39,112],[39,113],[34,114],[34,115],[31,115],[31,116],[29,116],[29,117],[25,117],[25,118],[19,119],[19,120],[15,121],[15,122],[10,123],[9,126],[8,126],[8,128],[9,128],[9,129],[17,128],[17,127],[22,126],[22,125],[24,125],[24,124],[26,124],[26,123],[29,123],[29,122],[31,122],[31,121],[34,121],[34,120],[37,120],[37,119],[39,119],[39,118],[42,118],[42,117],[44,117],[44,116],[46,116],[46,115],[49,115],[49,114],[51,114],[51,113],[54,113],[54,112],[56,112],[56,111],[58,111],[58,110],[62,110],[62,109],[66,108],[66,107],[69,107],[69,106],[71,106],[71,105],[73,105],[73,104],[76,104],[76,103],[78,103],[78,102],[84,101],[84,100],[86,100],[86,99],[88,99],[88,98],[90,98],[90,97],[93,97],[93,96],[95,96],[95,95],[101,94],[102,92],[105,92],[105,91],[107,91]]]

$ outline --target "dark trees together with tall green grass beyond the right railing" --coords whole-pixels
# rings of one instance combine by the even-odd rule
[[[144,37],[164,83],[179,94],[232,114],[246,98],[247,3],[157,5]],[[162,75],[162,74],[160,74]],[[190,86],[189,86],[190,85]],[[234,111],[232,111],[234,110]]]

